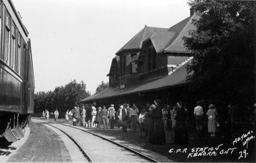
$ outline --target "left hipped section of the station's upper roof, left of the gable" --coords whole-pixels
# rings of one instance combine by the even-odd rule
[[[120,50],[116,52],[116,55],[119,55],[119,53],[124,50],[140,49],[142,47],[143,41],[150,37],[156,30],[167,31],[168,29],[155,28],[145,25],[144,29],[142,29],[137,35],[135,35],[129,42],[127,42]]]

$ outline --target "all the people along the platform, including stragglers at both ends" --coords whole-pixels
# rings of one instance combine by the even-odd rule
[[[194,108],[196,131],[198,137],[203,136],[203,125],[206,123],[205,117],[207,117],[209,137],[213,138],[216,137],[216,132],[219,130],[219,116],[214,104],[207,107],[205,109],[207,110],[206,114],[200,101],[197,102],[197,106]],[[232,107],[229,108],[228,113],[232,114]],[[58,114],[56,110],[54,113],[55,121],[58,119]],[[49,112],[44,111],[43,117],[48,119]],[[147,139],[152,144],[165,143],[165,132],[170,129],[174,131],[174,143],[176,145],[189,144],[189,113],[182,101],[174,105],[163,105],[160,99],[156,99],[154,104],[147,102],[140,109],[135,103],[131,107],[128,103],[124,103],[120,105],[118,110],[115,109],[114,104],[111,104],[109,108],[106,108],[105,105],[98,108],[95,106],[87,108],[75,106],[72,110],[67,110],[65,118],[67,122],[73,122],[73,125],[94,127],[96,129],[99,129],[101,124],[103,124],[104,130],[114,129],[116,122],[117,127],[123,132],[127,132],[127,128],[131,129],[131,132],[137,132],[137,128],[139,128],[140,138]]]

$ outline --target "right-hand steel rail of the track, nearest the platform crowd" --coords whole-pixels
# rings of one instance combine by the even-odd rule
[[[91,134],[93,134],[93,135],[95,135],[95,136],[97,136],[97,137],[99,137],[99,138],[101,138],[101,139],[103,139],[103,140],[109,141],[109,142],[111,142],[111,143],[114,143],[114,144],[116,144],[116,145],[118,145],[118,146],[120,146],[120,147],[126,149],[126,150],[129,150],[130,152],[133,152],[133,153],[135,153],[135,154],[137,154],[137,155],[139,155],[139,156],[141,156],[141,157],[143,157],[143,158],[145,158],[145,159],[147,159],[147,160],[149,160],[149,161],[151,161],[151,162],[159,162],[158,160],[156,160],[156,159],[154,159],[154,158],[151,158],[151,157],[148,157],[147,155],[145,155],[145,154],[143,154],[143,153],[141,153],[141,152],[138,152],[138,151],[136,151],[136,150],[134,150],[134,149],[132,149],[132,148],[129,148],[129,147],[127,147],[127,146],[124,146],[124,145],[122,145],[122,144],[120,144],[120,143],[118,143],[118,142],[112,141],[112,140],[110,140],[110,139],[108,139],[108,138],[101,137],[100,135],[97,135],[96,133],[93,133],[93,132],[84,130],[83,128],[75,127],[75,126],[71,126],[71,125],[67,125],[67,124],[62,124],[62,125],[69,126],[69,127],[76,128],[76,129],[80,129],[80,130],[82,130],[82,131],[84,131],[84,132],[91,133]]]

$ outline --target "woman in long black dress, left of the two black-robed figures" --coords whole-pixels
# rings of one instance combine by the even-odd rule
[[[166,142],[162,121],[163,114],[161,100],[157,99],[154,102],[156,107],[152,110],[152,122],[148,142],[152,144],[161,144]]]

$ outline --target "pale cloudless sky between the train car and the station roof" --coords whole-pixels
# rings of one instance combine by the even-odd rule
[[[92,95],[109,81],[115,53],[145,25],[189,17],[187,0],[12,0],[31,39],[35,93],[83,81]]]

